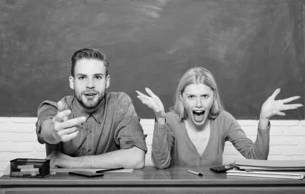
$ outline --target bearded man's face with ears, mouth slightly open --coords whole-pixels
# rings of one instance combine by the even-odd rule
[[[81,59],[75,64],[74,75],[69,80],[76,99],[87,109],[95,108],[103,100],[109,87],[110,76],[106,77],[104,62]]]

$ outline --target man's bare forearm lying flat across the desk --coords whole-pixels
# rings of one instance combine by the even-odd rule
[[[100,155],[71,157],[60,152],[51,153],[50,168],[88,168],[112,169],[124,167],[125,169],[142,169],[144,167],[145,152],[137,147],[121,149]]]

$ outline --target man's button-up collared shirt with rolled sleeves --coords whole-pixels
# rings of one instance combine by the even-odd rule
[[[100,107],[92,114],[85,112],[76,100],[75,96],[66,96],[61,101],[66,103],[66,109],[71,109],[70,119],[84,116],[87,120],[80,124],[79,133],[75,138],[56,145],[45,142],[40,132],[42,122],[57,114],[57,103],[47,100],[39,106],[36,133],[38,142],[46,143],[47,155],[55,150],[73,157],[98,155],[134,146],[147,152],[140,118],[127,94],[105,94]]]

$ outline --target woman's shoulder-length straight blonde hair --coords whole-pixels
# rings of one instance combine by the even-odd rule
[[[188,118],[188,113],[179,97],[179,93],[182,95],[186,87],[191,84],[204,84],[214,91],[215,99],[210,112],[208,113],[208,119],[215,119],[220,110],[224,110],[224,105],[221,101],[220,93],[218,91],[214,76],[211,74],[211,72],[202,67],[191,68],[181,77],[174,95],[174,106],[172,106],[170,110],[180,115],[181,120]]]

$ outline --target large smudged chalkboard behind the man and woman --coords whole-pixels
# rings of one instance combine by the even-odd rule
[[[191,67],[216,77],[236,119],[258,119],[278,99],[304,103],[305,1],[0,0],[0,116],[37,117],[43,100],[73,95],[70,58],[89,47],[110,61],[109,91],[126,92],[137,114],[154,118],[136,98],[148,87],[166,110]],[[286,117],[304,119],[304,108]]]

